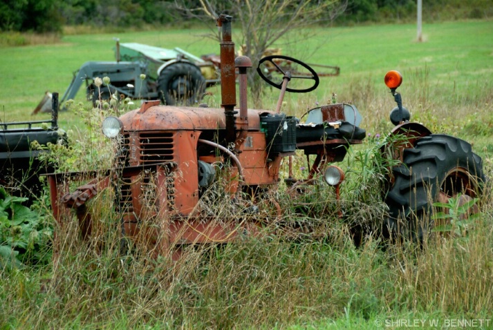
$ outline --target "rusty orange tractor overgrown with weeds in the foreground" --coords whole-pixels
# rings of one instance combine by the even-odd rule
[[[160,106],[159,101],[146,101],[140,109],[121,117],[107,117],[102,130],[107,137],[118,140],[118,166],[71,192],[66,183],[82,173],[48,175],[53,213],[61,225],[66,221],[62,216],[65,208],[73,208],[82,236],[90,235],[92,220],[87,203],[104,189],[112,188],[123,235],[138,237],[145,222],[152,220],[158,226],[144,237],[156,253],[172,251],[176,259],[184,246],[232,242],[245,233],[254,235],[268,222],[260,218],[264,213],[259,213],[255,203],[249,208],[250,215],[241,221],[211,221],[210,214],[201,209],[203,191],[216,181],[216,169],[223,164],[230,164],[231,168],[226,172],[229,184],[225,189],[232,203],[241,204],[245,195],[253,201],[268,195],[266,191],[279,185],[283,159],[289,164],[285,181],[290,189],[313,184],[317,175],[323,175],[339,196],[344,173],[331,163],[342,161],[348,146],[361,144],[366,135],[359,127],[361,116],[357,109],[348,104],[320,106],[308,112],[304,123],[281,113],[286,91],[308,93],[317,88],[319,78],[310,66],[288,58],[292,66],[297,66],[297,72],[305,71],[292,75],[277,66],[276,55],[261,59],[257,71],[268,84],[281,90],[277,108],[249,109],[246,72],[252,63],[248,57],[234,58],[232,17],[221,15],[217,23],[223,34],[221,108]],[[270,80],[268,70],[263,70],[266,64],[277,67],[282,81]],[[236,69],[239,108],[235,108]],[[292,88],[290,81],[297,79],[308,86]],[[398,104],[391,113],[396,125],[392,133],[409,137],[393,148],[394,157],[402,162],[392,169],[389,192],[384,197],[389,206],[386,227],[398,231],[398,219],[411,221],[411,215],[430,211],[434,200],[446,201],[459,193],[465,200],[476,197],[484,175],[481,158],[472,153],[470,144],[446,135],[432,135],[424,126],[409,122],[409,112],[402,107],[396,92],[402,81],[398,72],[389,72],[385,80]],[[297,150],[311,159],[305,179],[292,177],[290,159]],[[269,198],[273,217],[281,217],[283,210]],[[416,233],[423,230],[415,228]]]

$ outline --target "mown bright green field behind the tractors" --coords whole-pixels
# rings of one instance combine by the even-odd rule
[[[313,103],[337,93],[361,108],[367,99],[387,92],[382,79],[387,70],[404,75],[401,88],[404,101],[415,105],[426,88],[429,99],[439,99],[446,106],[491,106],[478,104],[493,89],[490,77],[493,47],[492,21],[466,21],[427,24],[425,42],[415,41],[412,25],[364,26],[315,29],[308,40],[279,44],[283,55],[308,63],[337,65],[340,77],[324,78]],[[204,37],[207,30],[164,30],[112,35],[68,35],[55,45],[2,48],[0,54],[1,119],[25,120],[46,90],[63,94],[72,72],[85,61],[114,59],[113,37],[121,42],[140,42],[164,48],[180,47],[194,55],[218,53],[218,43]],[[239,37],[236,38],[238,44]],[[426,77],[426,81],[423,81]],[[416,84],[425,83],[425,86]],[[362,90],[368,89],[370,90]],[[269,93],[266,107],[275,106],[277,93]],[[84,92],[78,97],[82,99]],[[219,95],[217,95],[219,97]],[[418,104],[416,104],[418,105]],[[369,114],[371,115],[371,114]],[[61,119],[67,120],[70,115]]]

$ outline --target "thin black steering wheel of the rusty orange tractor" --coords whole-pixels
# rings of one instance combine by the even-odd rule
[[[315,88],[317,88],[318,84],[320,83],[320,79],[317,75],[317,72],[315,72],[315,70],[313,70],[313,68],[310,68],[310,66],[308,66],[308,64],[303,63],[299,59],[293,59],[292,57],[288,57],[288,56],[270,55],[270,56],[263,57],[263,59],[261,59],[259,61],[259,66],[257,66],[257,72],[259,72],[260,77],[263,80],[265,80],[267,82],[267,84],[269,84],[270,86],[274,86],[275,88],[281,89],[283,83],[281,81],[281,83],[276,84],[274,81],[272,81],[268,77],[266,77],[266,75],[264,75],[264,72],[262,72],[260,65],[266,61],[270,62],[270,64],[272,64],[273,66],[275,66],[275,68],[277,68],[277,71],[281,72],[285,76],[286,76],[286,72],[290,72],[290,78],[291,79],[293,79],[293,78],[295,78],[295,79],[313,79],[315,81],[313,86],[311,86],[309,88],[304,88],[304,89],[286,88],[286,91],[288,91],[288,92],[291,92],[291,93],[308,93],[308,92],[311,92],[312,90],[314,90]],[[308,70],[309,73],[308,72],[304,73],[304,72],[298,72],[298,71],[294,71],[294,72],[291,71],[289,62],[288,62],[288,66],[284,66],[284,68],[282,65],[279,65],[279,62],[286,62],[286,61],[290,61],[292,63],[299,64],[300,66],[306,68],[306,70]],[[288,70],[286,70],[286,68]],[[269,72],[270,72],[270,70],[269,70]]]

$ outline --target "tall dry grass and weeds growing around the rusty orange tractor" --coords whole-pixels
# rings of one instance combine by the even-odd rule
[[[426,72],[417,72],[410,79],[418,92],[403,95],[404,105],[431,122],[435,116],[437,127],[452,132],[454,124],[443,119],[460,117],[465,104],[453,107],[452,101],[431,96],[423,75]],[[419,81],[425,85],[418,86]],[[481,111],[490,96],[477,95],[478,117],[490,116]],[[388,131],[387,109],[393,108],[389,95],[380,97],[371,84],[357,81],[348,95],[339,97],[362,104],[358,107],[367,114],[362,125],[367,131]],[[304,109],[311,101],[298,102]],[[444,103],[447,107],[439,106]],[[430,115],[429,108],[436,113]],[[93,127],[102,117],[87,111],[82,115]],[[76,153],[78,162],[72,159],[71,166],[92,169],[107,161],[97,153],[103,140],[96,131],[71,133],[84,155],[88,148],[92,155],[82,158]],[[147,244],[131,243],[122,253],[126,244],[113,211],[113,195],[101,194],[91,202],[96,217],[89,241],[81,239],[74,217],[55,227],[53,264],[1,272],[0,323],[14,328],[271,329],[328,327],[340,319],[371,327],[375,318],[491,318],[490,182],[481,197],[480,220],[465,237],[436,234],[424,246],[407,241],[389,245],[369,226],[360,246],[353,244],[353,224],[378,223],[385,212],[378,195],[381,173],[374,171],[380,162],[374,157],[378,143],[375,137],[367,139],[341,164],[347,173],[342,186],[344,220],[337,217],[330,189],[309,190],[295,205],[281,186],[276,197],[288,215],[282,219],[283,229],[305,226],[306,235],[272,235],[270,226],[279,229],[279,222],[272,222],[259,237],[190,246],[178,262],[169,255],[151,258]],[[482,155],[485,173],[492,177],[490,154]],[[295,163],[301,166],[304,160],[297,157]],[[225,209],[221,197],[214,196],[208,201],[210,208]]]

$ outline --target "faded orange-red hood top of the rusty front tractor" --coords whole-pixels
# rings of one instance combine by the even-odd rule
[[[260,130],[260,115],[267,110],[248,109],[248,130]],[[238,114],[235,115],[236,117]],[[131,130],[215,130],[225,129],[222,108],[142,106],[120,117],[123,129]]]

